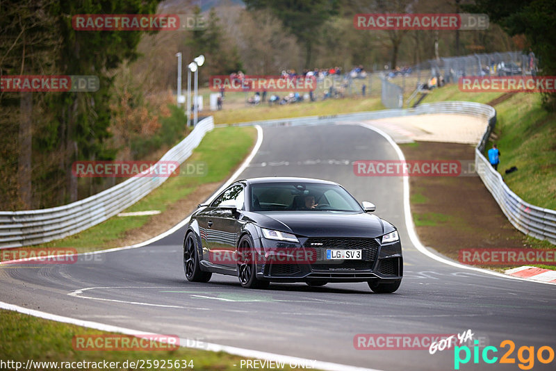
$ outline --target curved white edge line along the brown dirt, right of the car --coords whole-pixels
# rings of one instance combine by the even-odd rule
[[[388,140],[390,145],[394,148],[394,150],[396,151],[396,154],[398,154],[398,158],[402,161],[405,161],[405,156],[402,152],[402,149],[400,149],[400,146],[398,146],[394,142],[394,140],[390,137],[390,135],[384,133],[384,131],[382,131],[380,129],[377,129],[377,128],[369,125],[369,124],[364,124],[363,122],[359,122],[359,126],[363,126],[364,128],[370,129],[372,131],[375,131],[375,133],[378,133],[379,135],[382,135],[386,140]],[[430,252],[430,250],[428,250],[420,242],[420,240],[417,236],[417,233],[415,231],[415,225],[414,225],[414,222],[413,222],[413,218],[411,217],[411,206],[409,204],[409,176],[402,176],[402,178],[403,178],[403,184],[404,184],[405,226],[406,226],[406,229],[407,229],[407,233],[409,233],[409,239],[411,240],[411,243],[414,245],[414,247],[416,247],[418,249],[418,251],[420,253],[425,254],[426,256],[429,256],[430,258],[433,258],[435,261],[439,261],[440,263],[452,265],[452,267],[458,267],[458,268],[462,268],[462,269],[465,269],[465,270],[475,270],[476,272],[491,274],[493,276],[503,277],[505,279],[516,279],[518,281],[537,282],[537,283],[546,283],[548,285],[556,285],[556,283],[553,283],[553,282],[534,281],[532,279],[524,279],[524,278],[521,278],[521,277],[509,276],[508,274],[493,272],[491,270],[484,270],[484,269],[477,268],[477,267],[470,267],[469,265],[455,263],[455,262],[450,261],[446,258],[443,258],[442,256],[438,256],[438,255],[434,254],[433,252]]]

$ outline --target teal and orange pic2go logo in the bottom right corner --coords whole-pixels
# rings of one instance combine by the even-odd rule
[[[475,346],[473,347],[473,363],[480,363],[479,356],[481,356],[482,361],[484,363],[496,363],[498,361],[498,357],[494,356],[494,353],[498,352],[496,347],[484,347],[482,352],[480,352],[479,347],[477,344],[479,343],[475,340]],[[516,363],[516,358],[512,357],[512,353],[516,349],[516,344],[512,340],[504,340],[500,343],[500,348],[505,348],[506,346],[509,347],[507,352],[500,357],[499,363]],[[534,366],[535,360],[535,352],[534,347],[527,347],[523,346],[520,347],[517,351],[517,358],[520,363],[518,363],[518,367],[521,370],[531,370]],[[464,353],[464,358],[461,358],[462,353]],[[527,356],[525,356],[527,354]],[[540,363],[550,363],[554,361],[554,349],[548,346],[539,347],[537,349],[537,360]],[[454,348],[454,370],[459,370],[460,364],[466,364],[471,361],[471,349],[467,346],[463,347],[455,347]]]

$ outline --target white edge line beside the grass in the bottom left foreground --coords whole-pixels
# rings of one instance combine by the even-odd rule
[[[76,318],[65,317],[63,315],[54,315],[50,313],[45,313],[42,311],[35,311],[34,309],[23,308],[22,306],[16,306],[13,304],[8,304],[4,302],[0,302],[0,308],[7,309],[8,311],[16,311],[18,313],[23,313],[27,315],[33,315],[34,317],[44,318],[45,320],[52,320],[56,322],[63,322],[69,324],[76,324],[77,326],[88,327],[90,329],[97,329],[100,331],[108,331],[108,332],[116,332],[116,333],[123,333],[125,335],[131,336],[145,336],[145,335],[156,335],[152,332],[145,332],[145,331],[138,331],[133,329],[128,329],[126,327],[118,327],[113,326],[111,324],[102,324],[99,322],[92,322],[92,321],[85,321],[85,320],[78,320]],[[345,371],[380,371],[371,368],[359,368],[350,365],[342,365],[340,363],[331,363],[331,362],[323,362],[323,361],[316,361],[314,359],[308,358],[299,358],[293,356],[284,356],[282,354],[275,354],[269,352],[260,352],[258,350],[252,349],[243,349],[238,347],[230,347],[228,345],[220,345],[220,344],[213,344],[213,343],[200,343],[199,341],[191,338],[179,338],[179,345],[180,347],[187,347],[192,349],[201,349],[207,350],[211,352],[226,352],[228,354],[234,354],[236,356],[243,356],[247,358],[256,358],[256,359],[264,359],[268,361],[279,361],[284,363],[297,363],[302,365],[312,365],[313,368],[318,368],[320,370],[327,370],[327,371],[337,371],[337,370],[345,370]]]

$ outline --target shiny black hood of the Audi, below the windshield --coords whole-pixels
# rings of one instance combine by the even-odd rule
[[[263,228],[288,231],[305,237],[374,238],[394,230],[388,222],[368,213],[269,211],[259,215],[259,226]]]

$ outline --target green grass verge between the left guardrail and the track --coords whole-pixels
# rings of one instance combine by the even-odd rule
[[[224,181],[250,153],[256,138],[252,127],[219,128],[206,133],[199,147],[193,151],[179,176],[168,178],[161,186],[143,197],[124,212],[158,210],[164,212],[168,206],[188,195],[204,183]],[[187,164],[204,164],[206,174],[185,176]],[[202,201],[202,200],[199,200]],[[186,215],[183,215],[186,217]],[[41,247],[74,247],[78,252],[106,249],[110,242],[122,238],[126,231],[139,228],[149,222],[151,216],[111,217],[74,236],[56,240]]]

